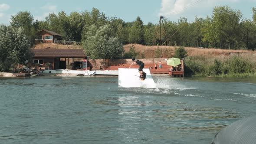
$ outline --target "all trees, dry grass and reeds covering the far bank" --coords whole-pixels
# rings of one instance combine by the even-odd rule
[[[187,22],[185,17],[177,22],[164,18],[168,46],[152,46],[157,23],[144,24],[139,16],[124,22],[107,17],[96,8],[69,15],[64,11],[50,13],[45,20],[34,20],[30,12],[21,11],[10,20],[10,26],[2,25],[0,31],[1,71],[30,59],[30,47],[61,49],[55,44],[33,46],[36,32],[47,29],[61,34],[65,40],[81,42],[82,46],[70,48],[83,48],[92,59],[171,58],[179,56],[175,48],[184,47],[188,76],[255,76],[256,72],[256,7],[252,7],[252,20],[244,19],[240,10],[224,6],[215,7],[206,18],[195,16],[193,22]],[[167,39],[163,36],[158,41]]]

